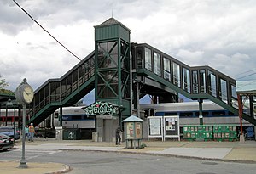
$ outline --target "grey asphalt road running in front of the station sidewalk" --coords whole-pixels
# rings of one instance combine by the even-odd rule
[[[0,160],[20,160],[21,150],[0,152]],[[144,154],[119,154],[81,150],[26,150],[29,162],[56,162],[73,168],[71,174],[254,174],[256,164],[195,160]]]

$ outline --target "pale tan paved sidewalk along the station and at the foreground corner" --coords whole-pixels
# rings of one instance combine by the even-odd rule
[[[177,141],[143,141],[147,145],[144,149],[125,149],[125,143],[116,146],[108,142],[92,142],[90,140],[55,140],[38,138],[34,142],[26,142],[26,149],[38,150],[90,150],[112,151],[119,153],[158,154],[180,156],[206,160],[224,160],[237,162],[251,162],[256,164],[256,141],[239,142],[177,142]],[[22,149],[17,142],[16,149]],[[70,167],[59,163],[28,163],[27,169],[20,169],[20,161],[1,161],[3,173],[63,173],[70,171]],[[35,172],[37,171],[37,172]]]

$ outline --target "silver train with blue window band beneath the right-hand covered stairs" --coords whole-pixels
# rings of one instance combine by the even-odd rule
[[[199,104],[198,102],[168,103],[168,104],[140,104],[140,109],[147,116],[178,115],[180,126],[199,125]],[[222,108],[211,101],[204,101],[202,104],[203,123],[205,125],[232,124],[240,125],[238,115]],[[243,121],[244,126],[251,126]]]

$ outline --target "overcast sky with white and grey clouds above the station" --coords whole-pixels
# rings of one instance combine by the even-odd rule
[[[209,65],[238,81],[256,79],[255,0],[16,0],[83,59],[94,50],[94,26],[113,17],[183,63]],[[24,77],[37,89],[59,78],[74,58],[12,0],[0,1],[0,74],[15,91]]]

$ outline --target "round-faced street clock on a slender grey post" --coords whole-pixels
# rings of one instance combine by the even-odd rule
[[[16,88],[15,98],[18,104],[22,105],[22,157],[20,160],[20,168],[27,168],[25,159],[25,124],[26,124],[26,104],[30,104],[34,98],[32,87],[27,83],[26,78]]]

